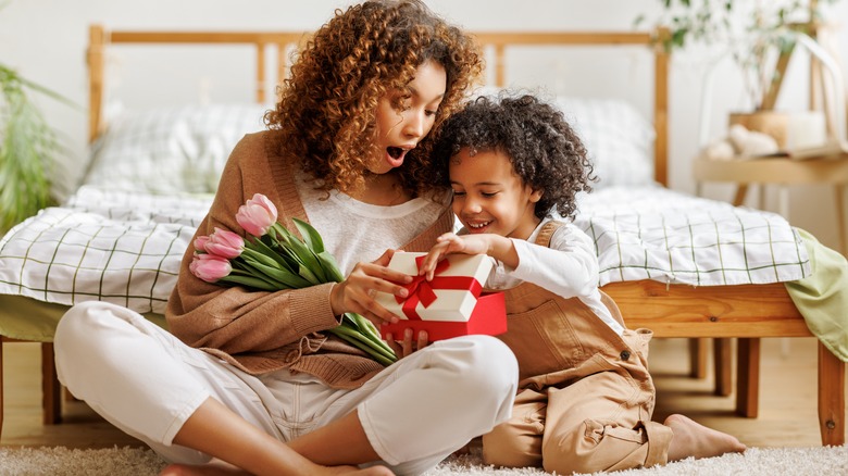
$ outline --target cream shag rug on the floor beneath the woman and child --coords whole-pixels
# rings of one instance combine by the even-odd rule
[[[145,476],[165,463],[152,451],[138,448],[70,450],[66,448],[0,448],[0,475]],[[615,476],[808,476],[848,475],[848,447],[750,448],[744,454],[684,460],[662,467],[607,473]],[[484,466],[479,454],[446,460],[426,476],[546,475],[540,469],[498,469]]]

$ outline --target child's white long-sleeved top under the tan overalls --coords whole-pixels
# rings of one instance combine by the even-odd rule
[[[538,246],[536,237],[547,222],[550,218],[543,220],[529,239],[512,239],[519,253],[519,266],[510,270],[498,261],[486,286],[509,289],[527,281],[565,299],[577,298],[621,336],[624,327],[601,302],[598,256],[591,239],[574,224],[566,223],[553,233],[549,248]]]

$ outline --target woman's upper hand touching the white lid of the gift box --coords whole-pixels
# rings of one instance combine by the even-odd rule
[[[412,281],[412,276],[388,267],[395,250],[386,250],[373,263],[357,263],[353,271],[344,281],[333,287],[329,293],[329,305],[334,315],[346,312],[361,314],[375,326],[384,323],[397,323],[398,316],[381,305],[375,299],[376,291],[406,298],[407,289],[396,283]]]

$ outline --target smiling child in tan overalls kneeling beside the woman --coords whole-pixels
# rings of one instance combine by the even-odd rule
[[[483,437],[487,464],[595,473],[745,451],[683,415],[650,421],[651,333],[624,327],[591,240],[554,220],[573,217],[594,179],[561,112],[533,96],[478,98],[446,122],[434,156],[463,229],[438,238],[421,273],[449,253],[495,258],[487,287],[506,290],[500,337],[519,359],[512,418]]]

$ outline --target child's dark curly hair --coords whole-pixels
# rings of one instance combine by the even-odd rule
[[[448,164],[460,150],[471,155],[499,151],[525,185],[541,190],[535,214],[574,217],[576,196],[591,191],[593,166],[586,148],[557,108],[532,95],[482,96],[444,124],[434,148],[435,177],[449,185]]]

